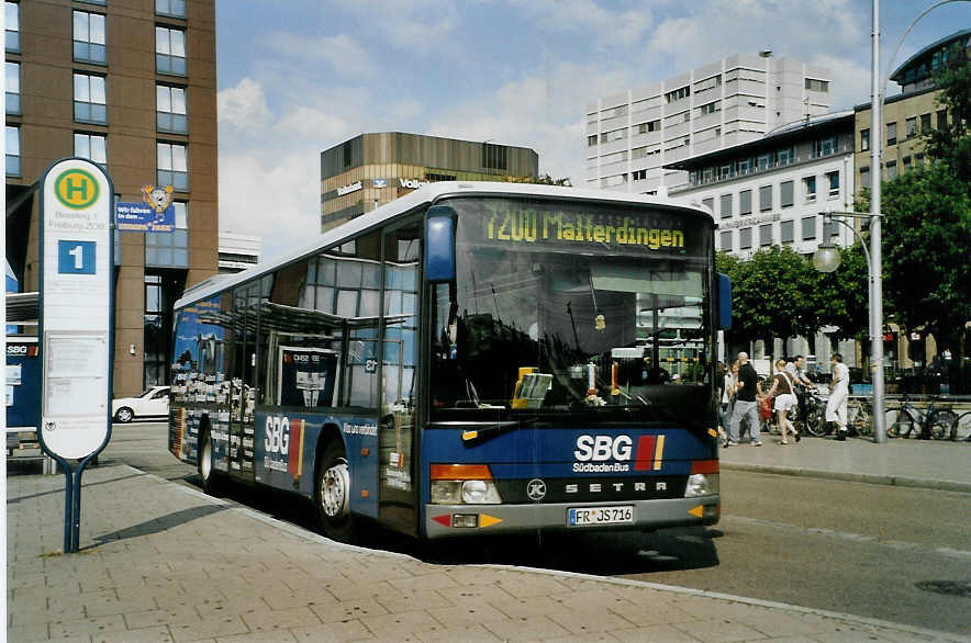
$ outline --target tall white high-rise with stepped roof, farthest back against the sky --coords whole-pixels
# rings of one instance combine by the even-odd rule
[[[587,187],[663,194],[685,181],[666,167],[828,108],[827,69],[771,52],[730,56],[604,97],[587,105]]]

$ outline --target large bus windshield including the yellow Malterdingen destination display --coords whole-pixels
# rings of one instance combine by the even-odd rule
[[[433,419],[707,410],[710,224],[629,205],[450,204],[457,280],[433,291]]]

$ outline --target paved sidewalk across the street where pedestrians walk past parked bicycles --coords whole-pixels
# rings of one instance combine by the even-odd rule
[[[871,484],[971,493],[971,443],[940,440],[803,438],[783,445],[762,436],[762,447],[743,442],[721,449],[722,469],[807,475]]]

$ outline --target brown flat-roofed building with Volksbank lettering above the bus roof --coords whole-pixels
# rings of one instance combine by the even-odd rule
[[[523,181],[539,171],[526,147],[402,132],[361,134],[321,153],[321,232],[434,181]]]

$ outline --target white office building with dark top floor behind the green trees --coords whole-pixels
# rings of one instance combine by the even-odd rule
[[[688,181],[669,194],[707,207],[718,230],[715,247],[743,258],[760,248],[791,246],[811,257],[823,241],[851,246],[853,234],[845,226],[824,225],[821,212],[852,210],[853,112],[814,116],[779,127],[764,137],[695,156],[667,166],[687,174]],[[783,353],[777,346],[757,342],[755,358]],[[813,341],[792,338],[786,354],[829,360],[825,336]],[[840,347],[853,365],[852,342]]]

